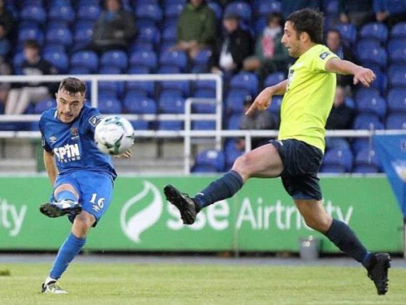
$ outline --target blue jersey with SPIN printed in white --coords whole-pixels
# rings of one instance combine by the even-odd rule
[[[110,156],[103,154],[94,143],[94,128],[101,115],[97,108],[84,105],[71,123],[57,117],[56,107],[45,111],[39,120],[42,147],[54,153],[59,174],[75,170],[108,173],[114,180],[117,174]]]

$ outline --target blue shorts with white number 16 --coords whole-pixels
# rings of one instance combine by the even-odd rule
[[[79,203],[82,210],[94,215],[97,225],[100,218],[110,205],[113,195],[113,181],[105,173],[89,170],[76,170],[63,175],[59,175],[54,184],[54,190],[61,184],[70,184],[79,194]],[[68,216],[73,223],[75,216]]]

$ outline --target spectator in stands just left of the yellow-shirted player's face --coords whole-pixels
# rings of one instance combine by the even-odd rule
[[[279,13],[268,15],[267,27],[256,41],[255,55],[244,60],[244,70],[256,71],[260,79],[265,79],[270,73],[288,69],[288,49],[280,42],[283,24]]]

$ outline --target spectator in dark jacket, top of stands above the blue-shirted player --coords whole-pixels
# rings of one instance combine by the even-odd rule
[[[99,54],[113,49],[127,51],[128,44],[135,34],[133,14],[123,8],[120,0],[106,0],[105,9],[94,25],[88,49]]]

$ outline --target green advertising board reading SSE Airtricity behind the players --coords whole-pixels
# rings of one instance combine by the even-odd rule
[[[193,226],[183,226],[163,186],[171,183],[193,194],[214,178],[118,178],[113,201],[85,249],[297,252],[299,239],[314,235],[322,252],[338,252],[305,226],[279,179],[250,180],[232,199],[199,213]],[[349,223],[369,250],[402,252],[403,217],[386,177],[323,177],[321,186],[327,211]],[[0,250],[58,249],[70,224],[40,214],[38,206],[50,193],[43,176],[0,177]]]

